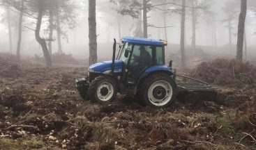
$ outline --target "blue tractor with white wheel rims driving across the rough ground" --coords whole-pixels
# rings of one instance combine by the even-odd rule
[[[88,77],[76,79],[77,90],[84,100],[98,103],[110,103],[119,92],[140,97],[148,106],[170,106],[178,91],[191,89],[176,84],[172,60],[165,65],[166,45],[164,40],[125,37],[116,56],[114,40],[112,61],[91,65]],[[193,87],[202,85],[212,89],[206,83]]]

